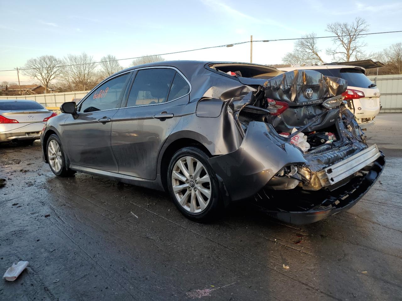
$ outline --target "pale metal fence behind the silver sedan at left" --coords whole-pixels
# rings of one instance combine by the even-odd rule
[[[39,102],[42,106],[57,111],[64,102],[71,102],[74,98],[83,98],[89,91],[64,93],[34,94],[24,96],[0,96],[0,99],[29,99]],[[57,109],[55,109],[57,108]]]

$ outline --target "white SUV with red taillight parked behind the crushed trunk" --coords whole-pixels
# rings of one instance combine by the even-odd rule
[[[349,110],[355,114],[357,123],[362,129],[374,124],[374,118],[379,113],[379,89],[364,74],[365,69],[347,65],[322,65],[305,67],[278,68],[281,71],[295,69],[315,70],[323,75],[336,76],[348,81],[348,89],[343,94],[348,101]]]

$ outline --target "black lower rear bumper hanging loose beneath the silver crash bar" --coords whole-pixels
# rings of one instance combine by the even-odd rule
[[[263,189],[256,195],[253,204],[260,211],[283,222],[296,225],[318,222],[355,205],[377,181],[384,166],[385,158],[381,153],[367,174],[354,177],[333,191],[293,189],[272,192]]]

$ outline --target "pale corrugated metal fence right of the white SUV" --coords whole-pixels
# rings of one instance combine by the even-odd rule
[[[402,74],[370,75],[377,84],[381,96],[381,113],[402,113]]]

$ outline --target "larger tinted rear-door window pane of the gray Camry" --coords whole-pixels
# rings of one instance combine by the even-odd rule
[[[166,102],[176,70],[142,69],[137,72],[127,100],[127,107]]]

